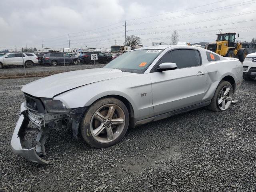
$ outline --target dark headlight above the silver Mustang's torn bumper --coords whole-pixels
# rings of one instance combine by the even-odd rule
[[[68,110],[60,100],[51,98],[41,98],[41,100],[48,112],[66,112]]]

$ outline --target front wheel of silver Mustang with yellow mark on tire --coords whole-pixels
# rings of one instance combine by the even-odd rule
[[[106,148],[118,143],[129,126],[129,112],[116,98],[94,102],[80,122],[84,140],[93,147]]]

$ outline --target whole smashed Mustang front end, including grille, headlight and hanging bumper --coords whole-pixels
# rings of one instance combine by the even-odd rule
[[[21,104],[20,118],[12,135],[12,151],[32,162],[48,164],[44,146],[51,130],[66,126],[72,128],[74,137],[77,137],[86,107],[67,109],[58,100],[28,94],[25,97],[26,102]]]

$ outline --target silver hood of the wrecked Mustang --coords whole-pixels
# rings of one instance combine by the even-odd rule
[[[68,90],[87,84],[104,81],[123,76],[132,76],[135,73],[122,72],[118,69],[96,68],[70,71],[48,76],[22,87],[22,91],[36,97],[53,98]]]

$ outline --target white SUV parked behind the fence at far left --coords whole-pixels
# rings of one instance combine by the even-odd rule
[[[38,63],[38,58],[34,53],[23,53],[24,64],[26,67],[32,67]],[[0,68],[3,66],[23,65],[22,53],[7,53],[0,57]]]

